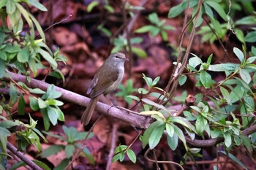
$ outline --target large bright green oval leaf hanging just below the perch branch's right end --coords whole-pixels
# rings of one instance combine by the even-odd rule
[[[162,137],[162,134],[164,133],[164,130],[165,130],[165,125],[162,124],[152,131],[152,134],[148,139],[148,145],[151,150],[154,149],[154,147],[156,147],[157,144],[159,143]]]

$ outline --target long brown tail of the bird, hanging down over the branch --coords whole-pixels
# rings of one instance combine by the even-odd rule
[[[86,111],[83,112],[81,123],[83,125],[88,125],[89,121],[91,120],[91,115],[94,112],[94,108],[96,107],[97,101],[99,101],[99,96],[96,98],[91,98]]]

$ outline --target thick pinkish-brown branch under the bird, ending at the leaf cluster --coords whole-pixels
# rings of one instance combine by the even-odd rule
[[[26,80],[26,77],[20,74],[15,74],[12,72],[8,72],[12,77],[12,80],[16,82],[23,82],[28,85],[30,88],[40,88],[42,90],[47,90],[49,84],[40,80],[31,79],[31,82]],[[10,80],[10,77],[4,77],[4,80]],[[82,96],[78,93],[73,93],[69,90],[65,90],[63,88],[56,87],[56,90],[62,93],[61,99],[65,101],[72,102],[74,104],[78,104],[80,106],[86,107],[89,104],[90,98]],[[128,112],[121,111],[120,109],[116,109],[115,107],[110,107],[107,104],[102,104],[101,102],[97,103],[97,107],[95,108],[97,112],[104,113],[106,115],[110,115],[118,118],[119,120],[123,120],[131,125],[134,125],[137,128],[147,128],[149,125],[150,118],[144,117]]]

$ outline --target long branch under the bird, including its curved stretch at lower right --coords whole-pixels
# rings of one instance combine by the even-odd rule
[[[11,75],[12,80],[15,80],[16,82],[23,82],[26,85],[28,85],[30,88],[40,88],[41,90],[47,90],[48,86],[50,85],[47,82],[44,82],[41,80],[35,80],[35,79],[31,79],[31,82],[28,82],[26,80],[26,77],[20,74],[15,74],[12,72],[9,72],[9,74]],[[10,77],[4,77],[4,80],[10,80]],[[86,107],[89,104],[90,98],[87,98],[78,93],[73,93],[69,90],[65,90],[59,87],[56,87],[56,90],[62,93],[61,99],[65,101],[69,101],[69,102],[72,102],[73,104],[78,104],[83,107]],[[97,103],[97,107],[95,108],[95,110],[105,115],[116,117],[118,120],[127,122],[137,128],[147,128],[151,120],[150,117],[128,113],[127,111],[122,111],[115,107],[110,107],[108,104],[103,104],[101,102]],[[252,125],[251,127],[246,128],[244,131],[242,131],[242,134],[247,136],[249,134],[254,133],[255,131],[256,131],[256,125]],[[187,137],[187,142],[189,144],[192,144],[195,147],[209,147],[211,145],[217,144],[222,141],[223,141],[222,138],[208,139],[208,140],[198,140],[198,139],[192,140],[192,139],[189,139],[189,137]]]

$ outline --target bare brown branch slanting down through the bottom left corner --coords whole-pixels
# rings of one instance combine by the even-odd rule
[[[28,164],[32,169],[36,170],[42,170],[39,166],[37,166],[36,163],[31,161],[29,158],[27,158],[22,152],[17,151],[17,148],[14,147],[10,142],[7,142],[7,148],[10,150],[14,155],[18,156],[23,162]]]

